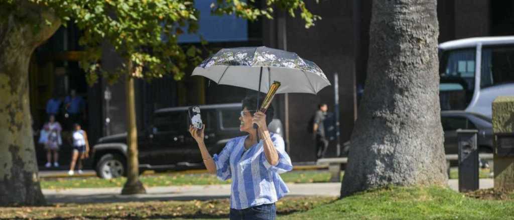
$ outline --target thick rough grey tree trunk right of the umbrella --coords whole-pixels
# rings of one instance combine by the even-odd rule
[[[446,185],[436,0],[375,0],[372,10],[368,77],[341,196]]]

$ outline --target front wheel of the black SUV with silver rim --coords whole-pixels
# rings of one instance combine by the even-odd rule
[[[96,171],[102,179],[113,179],[125,175],[125,159],[119,155],[107,153],[98,160]]]

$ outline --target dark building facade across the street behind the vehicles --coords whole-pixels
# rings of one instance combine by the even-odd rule
[[[314,27],[304,28],[300,18],[286,16],[280,10],[275,19],[248,22],[235,17],[205,16],[200,18],[200,33],[208,36],[209,48],[267,46],[296,52],[302,58],[314,61],[334,82],[339,77],[340,143],[350,139],[358,117],[360,91],[368,65],[369,26],[372,0],[314,0],[307,7],[322,16]],[[208,1],[197,1],[205,8]],[[514,34],[514,3],[487,0],[439,0],[439,42],[473,36]],[[202,10],[202,9],[200,9]],[[225,25],[224,25],[225,24]],[[230,24],[230,25],[226,25]],[[224,29],[225,28],[225,29]],[[87,86],[84,73],[78,68],[80,31],[72,25],[61,29],[45,45],[36,50],[30,68],[30,97],[33,118],[37,123],[45,120],[44,105],[52,96],[65,96],[71,89],[86,100],[84,123],[91,143],[105,135],[125,132],[125,96],[123,82],[108,84],[100,79]],[[183,43],[198,43],[195,36],[184,36]],[[105,47],[102,65],[113,70],[120,60],[116,53]],[[191,71],[189,71],[191,72]],[[137,125],[145,132],[152,122],[152,113],[158,108],[192,104],[240,102],[252,91],[234,86],[217,85],[201,77],[186,76],[182,81],[171,77],[151,82],[136,83]],[[309,118],[319,103],[327,103],[334,111],[334,86],[328,86],[318,95],[277,95],[273,102],[275,115],[286,128],[286,143],[293,162],[316,160],[316,147],[307,133]],[[327,157],[336,157],[336,141],[331,141]]]

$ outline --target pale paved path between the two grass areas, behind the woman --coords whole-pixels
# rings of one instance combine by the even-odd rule
[[[307,183],[287,184],[290,193],[287,196],[339,196],[341,183]],[[458,181],[448,181],[448,186],[458,190]],[[492,179],[481,179],[480,188],[492,188]],[[212,200],[228,199],[230,185],[192,185],[151,187],[146,194],[120,195],[121,188],[78,188],[78,189],[43,189],[49,203],[115,203],[168,200]]]

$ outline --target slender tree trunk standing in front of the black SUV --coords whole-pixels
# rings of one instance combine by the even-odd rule
[[[133,70],[132,62],[128,61],[128,69]],[[146,193],[143,184],[139,181],[139,160],[137,158],[137,126],[136,104],[134,96],[134,78],[131,74],[125,76],[125,93],[127,103],[127,182],[121,190],[121,194]]]

